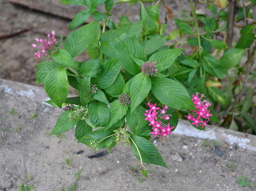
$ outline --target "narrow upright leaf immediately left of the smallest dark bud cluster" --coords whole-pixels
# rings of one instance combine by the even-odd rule
[[[80,102],[83,107],[87,105],[91,101],[92,93],[91,93],[91,77],[84,77],[78,86],[78,94],[80,97]]]

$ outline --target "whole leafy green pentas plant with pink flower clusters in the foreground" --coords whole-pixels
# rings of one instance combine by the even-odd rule
[[[131,145],[140,160],[140,171],[146,177],[143,162],[168,168],[149,139],[151,135],[168,137],[178,124],[178,113],[196,111],[199,106],[191,99],[192,90],[168,74],[182,48],[164,46],[167,38],[158,23],[161,1],[158,5],[152,4],[155,0],[148,1],[151,3],[148,9],[138,1],[140,21],[133,24],[123,15],[117,26],[109,18],[110,10],[115,4],[129,0],[61,2],[83,5],[87,9],[71,21],[71,30],[83,24],[90,14],[95,21],[68,35],[63,49],[59,47],[62,39],[57,43],[54,31],[52,37],[48,35],[48,40],[36,39],[43,47],[33,44],[42,49],[36,53],[36,58],[43,55],[53,58],[42,61],[36,71],[37,82],[44,84],[50,97],[46,102],[65,110],[51,134],[75,127],[78,142],[93,150],[111,149],[120,142],[125,147]],[[97,6],[103,3],[106,12],[98,12]],[[91,60],[74,61],[73,58],[83,51],[87,51]],[[68,84],[79,96],[68,97]],[[201,102],[200,107],[203,105],[205,103]],[[204,109],[206,111],[207,107]],[[201,114],[193,113],[193,118],[197,115]]]

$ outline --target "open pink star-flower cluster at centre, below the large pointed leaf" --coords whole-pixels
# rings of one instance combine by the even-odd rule
[[[146,110],[146,119],[150,123],[149,125],[152,125],[153,131],[150,134],[154,134],[155,138],[157,135],[161,135],[162,137],[166,137],[167,135],[172,134],[172,129],[174,127],[170,127],[170,123],[167,125],[164,124],[163,122],[167,121],[170,119],[172,114],[165,115],[166,110],[169,109],[168,106],[164,105],[162,109],[159,107],[156,107],[156,103],[153,105],[152,103],[147,103],[147,105],[150,107],[149,110]],[[160,109],[160,113],[156,113],[156,110]]]

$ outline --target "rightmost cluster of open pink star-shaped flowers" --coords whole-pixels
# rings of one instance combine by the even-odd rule
[[[201,98],[198,97],[198,94],[201,95]],[[196,96],[192,96],[192,100],[194,101],[196,109],[198,110],[193,110],[192,115],[188,113],[188,115],[185,115],[185,117],[193,122],[191,123],[192,125],[196,124],[196,127],[198,127],[198,123],[201,123],[200,125],[202,125],[202,128],[204,128],[209,121],[209,116],[212,116],[212,114],[210,114],[210,109],[207,110],[208,107],[211,106],[211,103],[207,99],[204,99],[203,101],[201,100],[202,97],[205,97],[204,94],[196,93]]]

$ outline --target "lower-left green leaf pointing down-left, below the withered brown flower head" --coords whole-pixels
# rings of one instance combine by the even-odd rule
[[[60,134],[75,127],[77,121],[69,119],[69,115],[73,115],[74,113],[75,111],[72,111],[72,110],[64,111],[60,115],[58,121],[56,122],[56,125],[52,130],[51,135]]]

